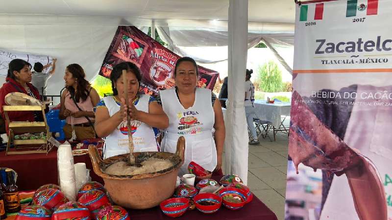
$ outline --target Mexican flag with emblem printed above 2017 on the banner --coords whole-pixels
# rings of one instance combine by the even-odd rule
[[[346,17],[377,15],[378,0],[347,0]]]

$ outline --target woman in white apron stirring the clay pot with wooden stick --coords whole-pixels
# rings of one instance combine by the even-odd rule
[[[129,108],[124,104],[123,70],[127,70],[129,82]],[[97,135],[106,137],[104,158],[129,153],[127,112],[131,116],[134,152],[159,150],[152,127],[166,129],[169,118],[152,97],[138,94],[141,78],[140,69],[131,62],[120,63],[111,72],[113,96],[104,97],[95,112]]]

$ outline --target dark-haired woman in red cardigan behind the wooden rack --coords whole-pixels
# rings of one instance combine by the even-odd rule
[[[38,89],[31,82],[31,65],[24,60],[15,59],[8,65],[7,78],[0,88],[0,111],[4,118],[3,106],[5,96],[11,92],[22,92],[33,98],[41,99]],[[42,114],[42,113],[41,113]],[[37,111],[10,111],[8,112],[9,120],[12,121],[42,121],[42,115]],[[8,132],[8,124],[6,124]]]

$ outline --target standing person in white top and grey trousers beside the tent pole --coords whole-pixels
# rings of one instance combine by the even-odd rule
[[[250,77],[253,73],[252,69],[246,69],[245,75],[245,115],[246,115],[246,123],[248,124],[248,128],[252,134],[251,139],[249,140],[249,144],[259,144],[259,140],[257,137],[256,128],[253,124],[253,118],[256,118],[256,113],[254,110],[254,86],[253,83],[250,81]]]

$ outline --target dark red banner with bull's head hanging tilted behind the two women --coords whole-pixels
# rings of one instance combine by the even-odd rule
[[[132,62],[142,73],[140,87],[145,94],[158,94],[159,90],[175,86],[174,66],[180,58],[135,26],[119,26],[106,53],[99,75],[110,78],[113,66]],[[213,89],[219,73],[198,66],[198,87]]]

